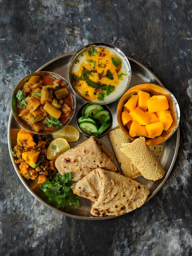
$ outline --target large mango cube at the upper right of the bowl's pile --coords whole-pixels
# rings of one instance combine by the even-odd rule
[[[149,112],[157,112],[169,108],[167,98],[164,95],[153,95],[147,100]]]

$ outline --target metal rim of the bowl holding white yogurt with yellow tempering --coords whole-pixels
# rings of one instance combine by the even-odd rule
[[[90,48],[91,46],[98,46],[98,47],[99,47],[99,46],[104,46],[104,47],[106,47],[106,48],[112,48],[113,50],[115,50],[116,52],[118,52],[118,54],[119,54],[120,56],[122,56],[122,58],[124,58],[124,62],[126,63],[126,65],[127,65],[127,67],[128,67],[129,78],[128,78],[127,85],[126,85],[126,87],[124,88],[124,90],[118,95],[118,97],[117,97],[116,99],[114,99],[114,100],[110,100],[110,101],[107,101],[107,102],[102,102],[102,101],[100,101],[100,102],[97,102],[97,101],[96,101],[96,102],[95,102],[95,101],[87,100],[87,99],[84,98],[84,97],[80,94],[80,92],[79,92],[78,90],[76,90],[76,89],[74,88],[74,86],[73,86],[73,83],[72,83],[72,75],[71,75],[72,72],[71,72],[71,71],[72,71],[72,67],[73,67],[73,65],[74,65],[74,62],[75,62],[77,56],[79,56],[79,54],[81,54],[82,52],[86,51],[87,48]],[[124,52],[122,52],[119,48],[117,48],[117,47],[116,47],[115,45],[113,45],[113,44],[102,43],[102,42],[97,42],[97,43],[92,43],[92,44],[84,45],[81,49],[79,49],[79,50],[74,54],[73,58],[72,58],[71,61],[70,61],[69,69],[68,69],[69,83],[70,83],[70,85],[72,86],[74,92],[77,94],[77,96],[78,96],[80,99],[82,99],[82,100],[84,100],[84,101],[86,101],[86,102],[88,102],[88,103],[97,104],[97,105],[106,105],[106,104],[110,104],[110,103],[112,103],[112,102],[114,102],[114,101],[120,99],[120,98],[122,97],[122,95],[124,94],[124,92],[126,92],[126,91],[128,90],[128,88],[129,88],[129,86],[130,86],[131,76],[132,76],[131,65],[130,65],[130,62],[129,62],[127,56],[124,54]]]

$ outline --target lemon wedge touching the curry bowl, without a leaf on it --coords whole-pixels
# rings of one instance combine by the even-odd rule
[[[64,138],[68,142],[74,142],[79,139],[79,131],[72,125],[66,125],[58,132],[53,132],[56,138]]]

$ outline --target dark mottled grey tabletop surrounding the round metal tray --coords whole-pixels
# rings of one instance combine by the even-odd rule
[[[0,255],[192,255],[190,1],[0,1]],[[141,208],[76,220],[40,204],[7,144],[13,88],[61,54],[106,42],[149,68],[180,105],[180,148],[163,188]]]

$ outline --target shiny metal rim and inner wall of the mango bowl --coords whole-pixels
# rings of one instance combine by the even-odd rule
[[[119,125],[119,128],[121,129],[121,131],[132,141],[134,141],[135,139],[138,138],[137,137],[131,137],[129,135],[129,132],[128,130],[124,127],[123,123],[122,123],[122,120],[121,120],[121,113],[123,111],[123,105],[125,103],[125,101],[127,101],[129,97],[127,97],[127,95],[129,95],[130,93],[133,94],[136,94],[140,89],[140,87],[143,88],[143,86],[145,87],[148,87],[148,89],[150,90],[150,85],[153,84],[155,85],[155,87],[157,88],[161,88],[165,93],[164,94],[168,94],[170,96],[169,98],[169,101],[171,100],[171,104],[174,108],[174,112],[175,112],[175,120],[176,120],[176,126],[174,127],[174,129],[168,134],[168,136],[165,136],[165,139],[164,137],[162,136],[158,136],[156,138],[147,138],[146,137],[146,144],[148,145],[156,145],[156,144],[159,144],[159,143],[163,143],[164,141],[168,140],[172,135],[173,133],[177,130],[178,126],[179,126],[179,122],[180,122],[180,108],[179,108],[179,104],[175,98],[175,96],[172,94],[172,92],[170,92],[167,88],[165,88],[164,86],[162,85],[159,85],[159,84],[154,84],[154,83],[142,83],[142,84],[137,84],[137,85],[134,85],[132,86],[131,88],[129,88],[125,93],[124,95],[121,97],[121,99],[119,100],[118,102],[118,105],[117,105],[117,111],[116,111],[116,116],[117,116],[117,122],[118,122],[118,125]],[[134,89],[137,91],[136,93],[133,93],[134,92]],[[144,88],[144,91],[145,91],[146,88]],[[131,92],[131,90],[133,90],[133,92]],[[153,89],[152,89],[153,90]],[[153,90],[154,91],[154,90]],[[154,94],[154,95],[162,95],[161,93],[158,93],[157,94]],[[123,102],[123,104],[122,104]],[[122,106],[121,106],[122,104]],[[121,108],[121,109],[119,109]],[[161,139],[163,138],[163,139]]]

